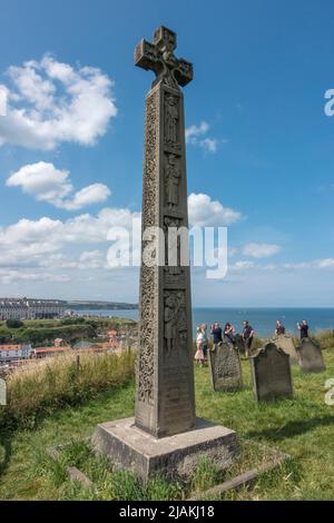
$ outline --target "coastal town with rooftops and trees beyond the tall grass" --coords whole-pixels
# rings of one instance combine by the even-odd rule
[[[0,298],[2,371],[71,351],[119,354],[136,345],[135,336],[135,322],[87,316],[67,308],[65,300]]]

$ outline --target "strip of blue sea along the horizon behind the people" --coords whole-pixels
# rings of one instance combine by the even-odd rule
[[[80,310],[78,313],[80,315],[138,319],[138,309]],[[195,307],[193,308],[193,334],[195,337],[197,325],[205,323],[210,327],[214,322],[219,322],[222,327],[228,322],[234,325],[237,332],[240,332],[244,319],[249,322],[258,337],[272,336],[277,319],[282,320],[289,334],[298,334],[297,322],[301,323],[303,319],[307,320],[311,334],[316,334],[320,330],[334,330],[334,308]]]

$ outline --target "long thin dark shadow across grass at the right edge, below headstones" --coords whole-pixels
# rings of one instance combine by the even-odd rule
[[[288,422],[286,425],[279,428],[266,428],[264,431],[252,431],[247,433],[247,437],[266,437],[272,441],[281,441],[287,437],[298,436],[308,431],[321,426],[327,426],[334,424],[334,416],[314,417],[312,420],[301,420],[295,422]]]

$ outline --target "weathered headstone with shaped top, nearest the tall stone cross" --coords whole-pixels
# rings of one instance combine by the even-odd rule
[[[210,378],[214,391],[233,391],[243,386],[240,359],[232,344],[222,343],[209,351]]]

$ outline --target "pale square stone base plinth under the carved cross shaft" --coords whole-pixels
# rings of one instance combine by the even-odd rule
[[[230,428],[197,418],[193,431],[156,440],[130,417],[98,425],[92,447],[115,468],[129,468],[144,482],[156,473],[187,478],[202,456],[226,468],[237,452],[237,435]]]

